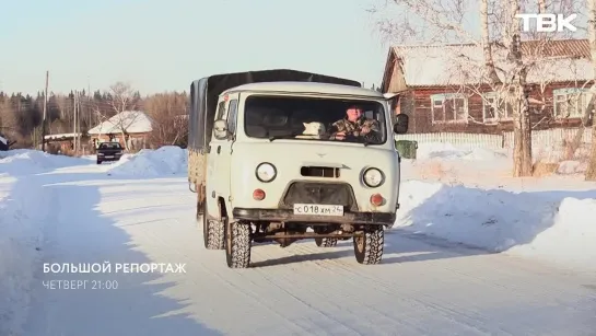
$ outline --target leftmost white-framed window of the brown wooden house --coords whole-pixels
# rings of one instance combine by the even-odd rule
[[[468,121],[468,100],[463,94],[434,94],[431,104],[433,124]]]

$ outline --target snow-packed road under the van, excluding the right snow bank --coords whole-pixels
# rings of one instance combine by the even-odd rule
[[[594,335],[596,328],[591,274],[400,229],[387,232],[382,265],[359,265],[349,241],[335,248],[304,241],[257,245],[253,268],[229,269],[223,251],[202,246],[184,175],[132,178],[103,170],[68,166],[26,179],[48,200],[39,211],[52,215],[28,318],[16,335]],[[104,262],[186,264],[186,273],[43,273],[43,263]],[[49,280],[87,282],[48,289]],[[117,288],[92,289],[94,280]]]

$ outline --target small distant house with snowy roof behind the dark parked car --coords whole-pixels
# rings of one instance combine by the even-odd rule
[[[125,111],[87,131],[91,143],[118,141],[131,150],[149,148],[149,135],[153,130],[151,118],[141,111]],[[122,137],[124,132],[124,137]]]

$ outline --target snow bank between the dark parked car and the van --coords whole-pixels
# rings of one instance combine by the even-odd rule
[[[175,146],[156,150],[143,149],[133,155],[124,155],[110,165],[107,172],[113,175],[161,176],[186,174],[187,151]]]

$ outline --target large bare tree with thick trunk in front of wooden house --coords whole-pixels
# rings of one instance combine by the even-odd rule
[[[440,42],[465,43],[481,50],[479,57],[465,55],[461,48],[454,46],[445,50],[449,58],[449,73],[453,86],[463,92],[482,92],[489,85],[512,105],[514,119],[514,176],[529,176],[533,173],[531,124],[529,108],[528,76],[537,65],[553,65],[560,55],[548,48],[548,43],[561,33],[521,32],[521,22],[516,18],[524,12],[544,11],[557,4],[558,13],[573,12],[571,1],[529,0],[490,1],[481,0],[480,8],[474,2],[463,0],[393,0],[394,7],[376,14],[395,9],[396,14],[379,20],[379,30],[393,43],[414,42],[432,44]],[[539,7],[533,10],[533,8]],[[466,26],[466,12],[479,13],[480,34],[475,34]],[[401,15],[401,18],[400,18]],[[474,15],[474,14],[472,14]],[[422,22],[413,24],[413,22]],[[480,36],[478,36],[480,35]],[[522,38],[531,38],[531,44],[522,45]],[[536,70],[535,70],[536,71]]]

